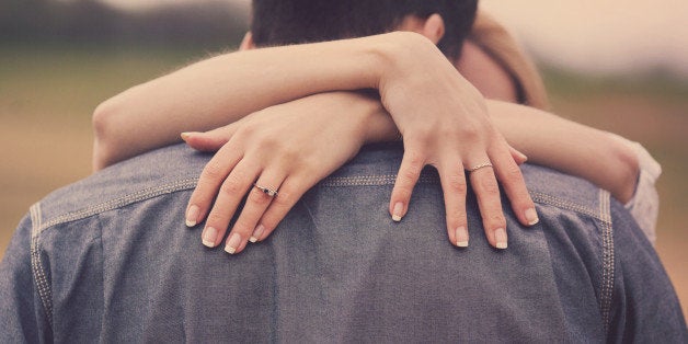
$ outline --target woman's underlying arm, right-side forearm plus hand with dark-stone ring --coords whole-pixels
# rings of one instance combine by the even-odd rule
[[[531,161],[587,177],[624,202],[624,193],[634,188],[630,176],[638,165],[620,139],[530,107],[501,102],[488,106],[497,127],[512,145],[527,150]],[[284,131],[289,136],[282,135]],[[219,185],[236,180],[236,173],[257,175],[242,165],[259,168],[260,184],[279,190],[278,197],[267,203],[270,197],[255,190],[249,194],[226,244],[233,254],[248,242],[267,238],[306,191],[344,164],[360,146],[395,140],[399,130],[377,100],[336,92],[271,106],[228,126],[183,137],[193,148],[219,150],[206,167],[215,172],[202,174],[187,206],[190,226],[207,218],[204,244],[219,244],[243,197],[243,192],[218,193]],[[449,230],[448,239],[457,246],[469,241],[468,233],[460,230]]]

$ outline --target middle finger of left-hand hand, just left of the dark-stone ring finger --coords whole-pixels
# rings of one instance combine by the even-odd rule
[[[253,186],[253,181],[256,180],[259,173],[259,168],[251,165],[246,160],[241,160],[225,179],[202,233],[204,245],[215,248],[219,244],[237,207],[249,188]],[[236,239],[232,243],[234,242]]]

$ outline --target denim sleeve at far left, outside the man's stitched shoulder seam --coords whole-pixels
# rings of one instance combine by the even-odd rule
[[[25,217],[14,232],[0,263],[0,342],[38,343],[42,335],[36,308],[38,298],[31,268],[31,219]]]

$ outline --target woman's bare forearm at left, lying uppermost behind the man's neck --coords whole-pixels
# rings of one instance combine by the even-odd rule
[[[226,54],[134,87],[95,110],[94,168],[305,95],[378,88],[403,57],[395,49],[429,44],[418,37],[392,33]]]

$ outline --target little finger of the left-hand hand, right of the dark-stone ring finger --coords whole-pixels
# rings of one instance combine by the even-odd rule
[[[277,228],[277,225],[287,216],[294,205],[312,186],[300,181],[306,179],[299,176],[288,176],[279,187],[279,193],[270,204],[265,214],[255,227],[252,237],[256,241],[265,240]]]

